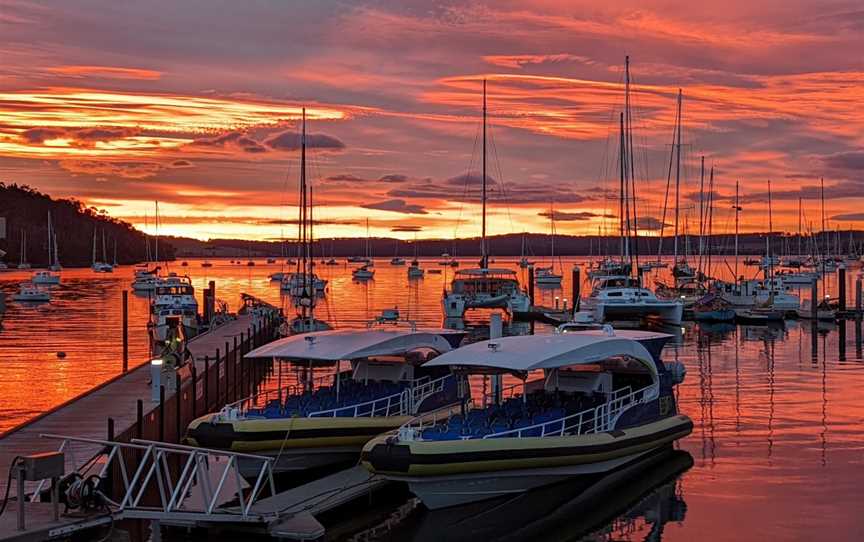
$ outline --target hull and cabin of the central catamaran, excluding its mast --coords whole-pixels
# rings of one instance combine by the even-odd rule
[[[442,301],[447,318],[462,318],[469,309],[503,308],[511,315],[531,309],[531,298],[519,286],[516,272],[503,268],[457,271]]]

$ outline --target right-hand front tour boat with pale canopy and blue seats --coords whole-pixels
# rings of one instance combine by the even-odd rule
[[[450,367],[461,379],[460,408],[372,439],[361,464],[406,482],[436,510],[575,483],[667,449],[693,430],[675,400],[684,366],[660,359],[670,338],[606,326],[491,339],[442,354],[424,367]],[[522,383],[471,397],[468,377],[490,374]]]

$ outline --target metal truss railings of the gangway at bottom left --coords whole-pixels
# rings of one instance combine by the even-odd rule
[[[122,498],[114,500],[104,494],[102,497],[124,518],[168,519],[173,514],[207,521],[261,521],[263,518],[255,513],[254,505],[265,487],[271,495],[276,493],[273,458],[270,457],[140,439],[113,442],[53,434],[40,436],[60,440],[61,449],[67,448],[69,443],[104,446],[100,454],[104,460],[88,462],[88,470],[79,474],[88,474],[99,464],[100,479],[106,478],[109,469],[119,470]],[[135,458],[133,454],[140,457]],[[244,467],[247,472],[257,469],[248,493],[240,473],[241,460],[251,463],[251,467]],[[131,470],[127,463],[137,466]],[[228,489],[231,487],[233,489]],[[192,498],[196,489],[200,497],[197,500]],[[153,504],[154,493],[158,496],[158,505]],[[235,500],[239,507],[231,511],[220,508]]]

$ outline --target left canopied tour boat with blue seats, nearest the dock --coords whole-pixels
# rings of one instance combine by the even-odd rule
[[[244,357],[288,362],[296,380],[283,386],[280,364],[277,389],[198,418],[186,440],[275,457],[276,472],[356,462],[375,435],[456,403],[456,377],[421,365],[463,337],[448,329],[388,325],[278,339]],[[257,474],[260,462],[240,467]]]

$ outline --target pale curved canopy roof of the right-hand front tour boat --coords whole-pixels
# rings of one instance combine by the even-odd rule
[[[651,353],[638,341],[602,333],[501,337],[463,346],[438,356],[424,366],[458,365],[522,372],[596,363],[615,356],[636,358],[648,366],[652,373],[657,373]]]

